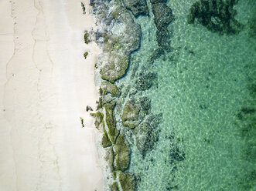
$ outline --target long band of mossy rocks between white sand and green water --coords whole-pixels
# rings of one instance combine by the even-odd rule
[[[166,1],[152,0],[151,4],[157,30],[164,30],[173,20],[172,11]],[[100,99],[97,112],[90,115],[94,116],[95,126],[102,135],[101,146],[108,163],[106,172],[110,172],[106,182],[110,190],[135,190],[140,178],[128,170],[132,152],[128,134],[135,139],[135,146],[144,159],[147,152],[154,148],[155,142],[158,142],[157,126],[162,119],[161,113],[152,114],[148,97],[135,94],[150,89],[157,75],[146,70],[136,75],[135,92],[118,86],[117,82],[125,78],[131,53],[140,47],[142,30],[135,18],[138,15],[148,16],[148,5],[145,0],[91,0],[90,5],[93,6],[97,25],[100,25],[100,29],[95,32],[95,40],[102,49],[95,64],[97,81],[100,81]],[[164,42],[166,35],[158,39]],[[153,62],[158,59],[162,52],[169,50],[168,47],[160,43],[159,55],[154,57],[159,52],[157,49],[153,53],[154,58],[151,55],[148,60]],[[117,120],[118,116],[120,119]]]

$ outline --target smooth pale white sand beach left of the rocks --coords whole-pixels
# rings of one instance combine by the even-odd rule
[[[84,44],[94,22],[80,2],[0,0],[1,191],[103,190],[85,111],[96,107],[99,49]]]

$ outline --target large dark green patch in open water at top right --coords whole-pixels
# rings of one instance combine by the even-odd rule
[[[211,32],[220,34],[236,34],[241,31],[242,24],[234,15],[234,5],[237,0],[200,0],[193,3],[189,9],[188,23],[193,24],[195,19]]]

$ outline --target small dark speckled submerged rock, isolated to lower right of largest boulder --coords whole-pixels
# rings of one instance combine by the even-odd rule
[[[142,91],[150,89],[156,79],[157,79],[157,75],[155,73],[141,72],[139,73],[138,79],[135,82],[135,88]]]

